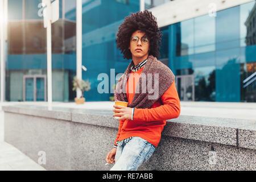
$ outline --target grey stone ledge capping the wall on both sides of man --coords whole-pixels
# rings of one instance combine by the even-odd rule
[[[32,105],[2,106],[6,113],[32,115],[35,117],[60,119],[94,126],[118,129],[118,119],[111,110],[77,109]],[[180,115],[167,120],[162,135],[220,143],[255,150],[256,119],[234,119]]]

